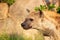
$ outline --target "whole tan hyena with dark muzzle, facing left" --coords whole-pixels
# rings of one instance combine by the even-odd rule
[[[44,36],[50,36],[54,40],[60,40],[59,23],[58,20],[55,20],[59,19],[59,14],[41,10],[29,13],[25,21],[21,24],[24,29],[28,30],[33,28],[41,30]]]

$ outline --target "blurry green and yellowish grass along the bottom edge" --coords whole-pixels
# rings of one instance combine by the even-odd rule
[[[41,36],[36,35],[37,37],[35,38],[35,40],[43,40]],[[7,33],[3,33],[0,34],[0,40],[33,40],[32,37],[27,37],[24,35],[18,35],[18,34],[7,34]]]

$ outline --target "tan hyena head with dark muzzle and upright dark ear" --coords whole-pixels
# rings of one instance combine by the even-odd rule
[[[39,10],[38,12],[29,12],[25,21],[21,24],[24,29],[38,28],[40,27],[40,22],[43,21],[43,12]]]

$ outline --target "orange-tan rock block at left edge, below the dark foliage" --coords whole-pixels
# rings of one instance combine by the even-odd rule
[[[0,19],[7,18],[8,5],[6,3],[0,3]]]

